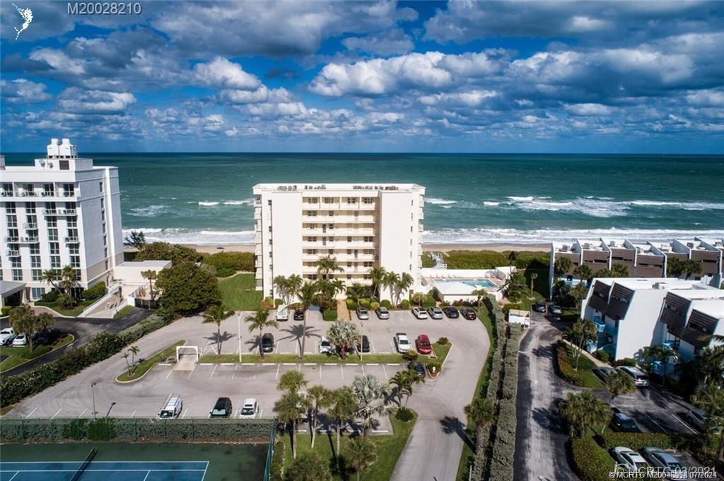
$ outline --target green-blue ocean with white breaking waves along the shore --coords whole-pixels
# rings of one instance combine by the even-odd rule
[[[8,154],[28,165],[35,154]],[[260,182],[414,182],[425,243],[724,237],[724,156],[83,153],[118,166],[122,225],[152,240],[253,243]]]

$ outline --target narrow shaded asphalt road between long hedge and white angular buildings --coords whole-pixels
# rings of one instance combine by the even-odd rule
[[[573,391],[553,370],[560,330],[538,312],[521,340],[518,355],[518,427],[515,433],[515,480],[578,480],[568,463],[568,433],[555,402]]]

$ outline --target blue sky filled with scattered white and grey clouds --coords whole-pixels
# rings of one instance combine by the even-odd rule
[[[720,1],[14,3],[4,152],[724,151]]]

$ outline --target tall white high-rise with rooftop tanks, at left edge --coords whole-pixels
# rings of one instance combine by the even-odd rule
[[[6,295],[38,299],[50,289],[43,271],[67,265],[77,289],[108,284],[123,260],[118,169],[93,166],[68,139],[52,139],[34,166],[0,161],[0,219]]]

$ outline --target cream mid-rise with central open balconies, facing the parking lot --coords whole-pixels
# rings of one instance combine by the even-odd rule
[[[416,184],[257,184],[256,288],[273,292],[277,276],[318,278],[316,261],[331,255],[345,284],[371,284],[382,266],[420,282],[423,195]],[[387,292],[384,292],[387,291]],[[382,297],[389,298],[389,289]]]

